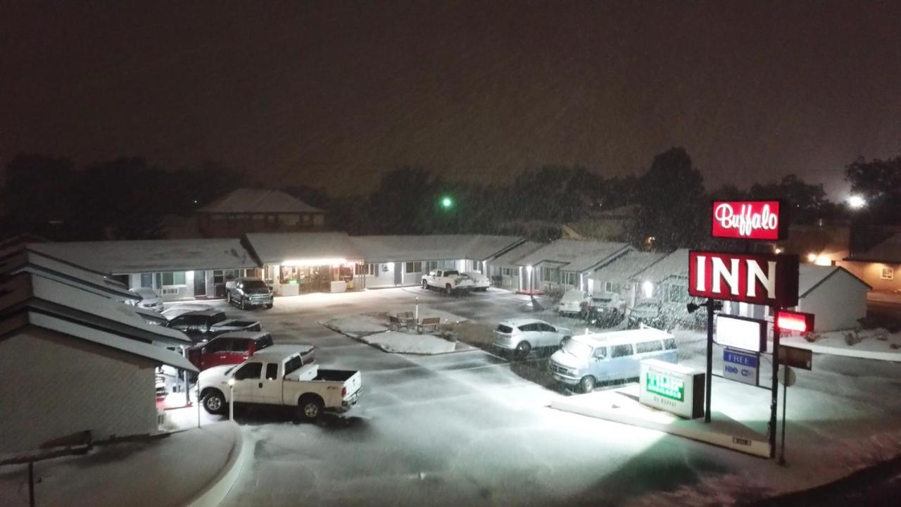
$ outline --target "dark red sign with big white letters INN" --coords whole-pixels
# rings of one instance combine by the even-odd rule
[[[689,252],[688,294],[758,305],[796,306],[797,255]]]

